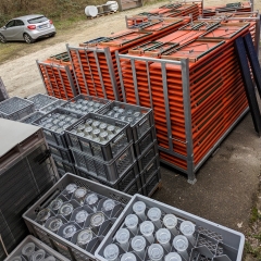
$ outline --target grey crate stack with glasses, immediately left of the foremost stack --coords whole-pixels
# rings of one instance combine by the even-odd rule
[[[76,173],[73,156],[67,146],[64,129],[80,117],[82,114],[70,112],[62,108],[55,108],[32,122],[32,124],[42,127],[60,177],[66,172]]]

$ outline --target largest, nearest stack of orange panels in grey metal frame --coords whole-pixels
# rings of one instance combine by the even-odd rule
[[[124,100],[153,109],[161,161],[186,173],[190,183],[248,110],[233,44],[260,23],[259,17],[217,26],[217,21],[209,22],[182,28],[187,32],[179,32],[173,42],[178,45],[184,34],[179,39],[187,44],[149,53],[158,59],[119,54],[117,61]],[[187,41],[202,33],[203,37]],[[170,41],[172,37],[166,38]]]

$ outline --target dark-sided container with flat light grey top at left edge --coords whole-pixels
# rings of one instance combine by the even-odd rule
[[[39,127],[0,119],[0,234],[8,252],[28,235],[23,213],[57,181]],[[0,244],[0,260],[5,258]]]

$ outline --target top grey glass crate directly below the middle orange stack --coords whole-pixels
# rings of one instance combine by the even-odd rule
[[[94,102],[94,105],[90,105]],[[82,115],[86,115],[87,113],[94,112],[98,113],[100,110],[104,108],[104,105],[109,104],[111,101],[102,98],[98,98],[95,96],[85,96],[78,95],[71,99],[69,102],[63,104],[62,107],[65,110],[79,113]],[[96,108],[95,104],[99,103],[99,107]]]

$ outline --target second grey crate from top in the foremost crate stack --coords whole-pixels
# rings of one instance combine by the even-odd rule
[[[89,157],[74,148],[71,148],[71,150],[73,152],[75,165],[78,169],[108,182],[117,181],[135,162],[133,144],[129,144],[128,147],[117,156],[117,158],[109,162],[97,160],[96,158]]]

